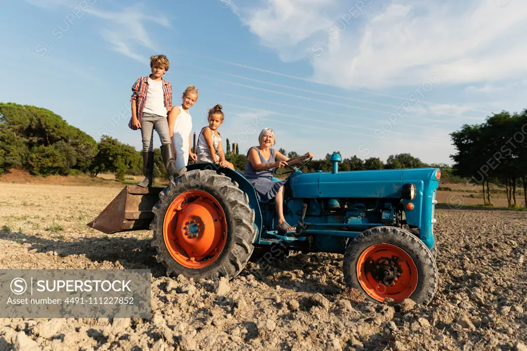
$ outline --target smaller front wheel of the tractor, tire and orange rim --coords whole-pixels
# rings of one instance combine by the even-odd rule
[[[344,279],[369,300],[428,305],[438,286],[432,252],[412,233],[394,227],[365,230],[346,249]]]

